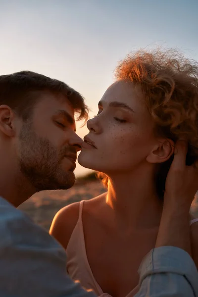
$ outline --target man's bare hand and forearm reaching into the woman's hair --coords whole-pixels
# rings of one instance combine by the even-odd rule
[[[186,165],[188,143],[178,140],[170,166],[155,247],[173,246],[192,254],[189,210],[198,190],[198,169]]]

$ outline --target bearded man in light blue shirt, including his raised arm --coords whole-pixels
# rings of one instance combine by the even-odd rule
[[[78,92],[60,81],[29,71],[0,76],[2,297],[95,296],[68,277],[63,248],[15,208],[35,192],[73,186],[76,153],[82,143],[75,133],[75,113],[86,119],[87,106]],[[189,255],[190,228],[186,220],[193,195],[181,195],[181,203],[188,203],[183,203],[183,211],[177,213],[174,192],[181,188],[178,184],[182,178],[184,186],[194,190],[197,176],[192,171],[195,179],[186,183],[183,166],[179,179],[171,184],[178,160],[185,160],[186,145],[179,143],[178,152],[167,184],[156,248],[141,265],[136,297],[198,294],[198,272]],[[181,234],[176,237],[178,230]]]

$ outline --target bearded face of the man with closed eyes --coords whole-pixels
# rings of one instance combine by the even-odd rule
[[[69,101],[60,95],[42,93],[31,119],[23,122],[19,133],[21,173],[37,192],[71,188],[81,143]]]

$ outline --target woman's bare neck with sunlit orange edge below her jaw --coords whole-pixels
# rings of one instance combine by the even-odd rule
[[[118,226],[154,228],[159,225],[163,201],[156,194],[152,168],[138,168],[109,176],[106,203]]]

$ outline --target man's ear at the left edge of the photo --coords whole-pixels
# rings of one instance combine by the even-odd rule
[[[15,114],[9,106],[0,105],[0,131],[8,137],[15,135],[14,117]]]

